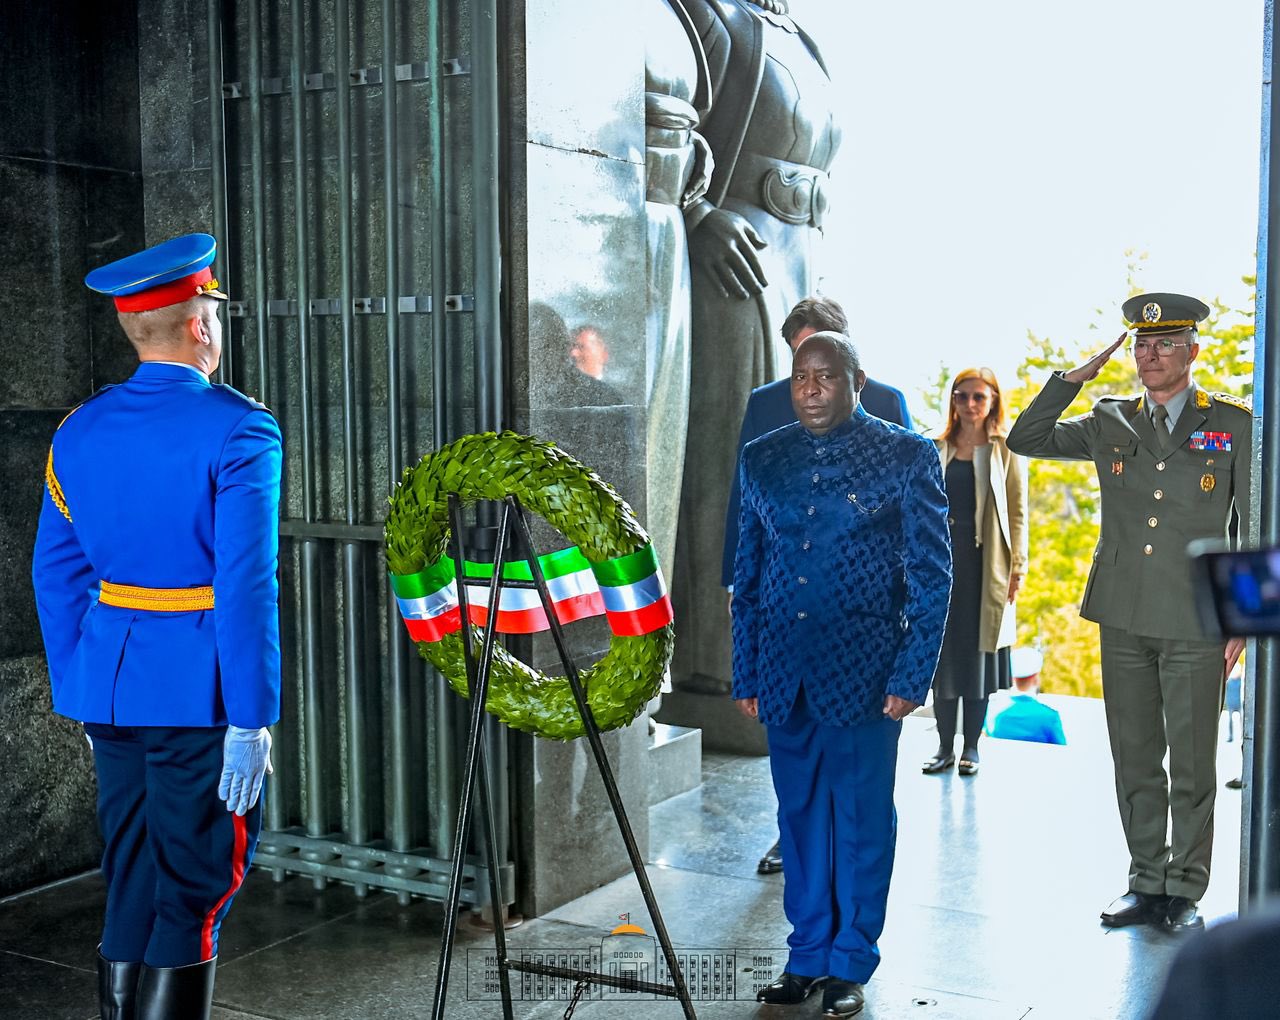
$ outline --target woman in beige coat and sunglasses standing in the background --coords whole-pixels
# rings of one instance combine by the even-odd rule
[[[955,764],[963,701],[959,770],[973,776],[987,697],[1012,682],[1014,599],[1027,575],[1027,462],[1005,445],[1005,404],[991,369],[965,369],[955,378],[947,427],[934,443],[950,503],[954,582],[933,676],[938,753],[924,772]]]

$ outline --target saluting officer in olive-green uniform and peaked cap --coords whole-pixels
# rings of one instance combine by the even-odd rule
[[[1184,932],[1203,927],[1197,901],[1208,886],[1213,842],[1222,678],[1243,649],[1243,641],[1203,634],[1187,544],[1225,538],[1233,509],[1239,534],[1248,534],[1252,413],[1192,380],[1197,324],[1208,315],[1203,302],[1139,294],[1123,311],[1130,329],[1084,365],[1050,376],[1010,430],[1009,448],[1097,467],[1102,535],[1080,616],[1100,627],[1116,799],[1132,859],[1129,889],[1102,923]],[[1088,413],[1059,421],[1126,339],[1143,393],[1102,397]]]

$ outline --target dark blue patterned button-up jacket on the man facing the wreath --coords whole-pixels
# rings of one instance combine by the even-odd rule
[[[733,571],[733,697],[783,722],[804,683],[824,723],[924,701],[951,596],[942,468],[928,439],[859,408],[742,450]]]

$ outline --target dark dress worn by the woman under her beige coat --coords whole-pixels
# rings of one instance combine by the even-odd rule
[[[982,546],[977,541],[978,497],[973,461],[952,458],[943,480],[947,490],[947,523],[951,525],[951,609],[942,639],[938,669],[933,674],[934,697],[986,697],[1012,686],[1009,649],[978,650],[978,621],[982,614]]]

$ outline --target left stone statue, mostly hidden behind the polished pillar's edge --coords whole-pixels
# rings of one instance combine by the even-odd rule
[[[646,527],[658,562],[676,558],[680,480],[689,426],[691,333],[689,248],[684,210],[707,192],[710,151],[695,131],[709,97],[707,63],[680,0],[644,0],[645,211],[649,297],[645,385]]]

